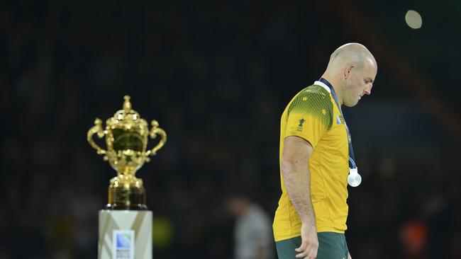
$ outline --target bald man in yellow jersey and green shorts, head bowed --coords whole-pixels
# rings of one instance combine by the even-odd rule
[[[348,175],[355,162],[351,159],[351,166],[352,144],[341,105],[355,106],[370,95],[376,74],[370,51],[348,43],[331,54],[321,79],[285,108],[280,122],[282,196],[273,224],[279,259],[351,258],[344,233]]]

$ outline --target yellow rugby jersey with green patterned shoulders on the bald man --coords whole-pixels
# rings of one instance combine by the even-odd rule
[[[301,137],[313,146],[309,169],[317,231],[344,234],[348,217],[348,134],[330,88],[316,81],[297,93],[285,108],[280,125],[279,161],[285,137]],[[282,196],[273,224],[276,242],[301,235],[301,221],[289,199],[282,172],[280,180]]]

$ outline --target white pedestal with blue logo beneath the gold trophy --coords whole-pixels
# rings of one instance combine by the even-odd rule
[[[98,259],[152,259],[150,210],[99,211]]]

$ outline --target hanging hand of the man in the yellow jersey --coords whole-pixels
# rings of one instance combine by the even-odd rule
[[[301,246],[294,249],[298,252],[296,258],[314,259],[317,257],[318,238],[316,224],[306,222],[301,224]]]

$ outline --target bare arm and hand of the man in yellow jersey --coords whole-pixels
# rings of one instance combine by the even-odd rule
[[[311,202],[311,172],[309,158],[312,145],[301,137],[284,139],[282,175],[291,203],[301,219],[301,246],[296,248],[296,258],[316,258],[318,238],[316,214]]]

